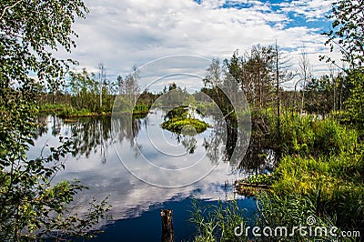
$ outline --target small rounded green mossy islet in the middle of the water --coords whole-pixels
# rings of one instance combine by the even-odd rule
[[[190,128],[195,128],[196,133],[202,133],[204,132],[207,127],[209,127],[210,125],[208,125],[206,122],[201,121],[197,118],[171,118],[168,119],[167,121],[162,123],[162,128],[167,129],[171,132],[180,134],[182,129],[185,126],[188,126],[188,129]],[[194,133],[194,132],[191,132]]]

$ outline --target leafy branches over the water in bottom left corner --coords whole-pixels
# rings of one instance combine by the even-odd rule
[[[19,139],[18,139],[19,140]],[[15,152],[6,152],[1,157],[1,166],[10,171],[0,171],[2,186],[0,194],[0,238],[2,240],[27,240],[39,237],[53,237],[52,231],[62,231],[54,235],[60,237],[84,237],[89,229],[108,210],[106,201],[100,205],[93,203],[86,215],[73,214],[69,204],[75,195],[86,188],[77,180],[63,181],[54,186],[50,180],[65,166],[62,157],[70,152],[72,140],[63,139],[62,145],[51,147],[51,155],[26,159]],[[3,144],[5,142],[2,142]],[[3,152],[4,153],[4,152]]]

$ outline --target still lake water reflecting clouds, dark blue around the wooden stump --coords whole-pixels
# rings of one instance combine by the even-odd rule
[[[156,109],[141,118],[39,117],[41,128],[29,158],[45,155],[47,146],[59,144],[59,136],[76,140],[76,156],[66,157],[66,169],[54,181],[77,178],[90,187],[76,197],[78,214],[86,212],[91,197],[109,196],[112,220],[100,224],[105,233],[95,241],[160,241],[161,208],[173,209],[176,241],[191,240],[196,232],[188,222],[192,198],[203,206],[235,198],[239,207],[247,209],[247,217],[255,216],[256,201],[234,194],[231,185],[265,167],[237,169],[225,162],[228,137],[226,130],[217,130],[213,117],[201,117],[212,124],[202,134],[177,136],[160,128],[164,116]],[[184,172],[158,173],[155,167]]]

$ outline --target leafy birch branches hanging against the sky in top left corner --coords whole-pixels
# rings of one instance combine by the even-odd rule
[[[76,17],[88,12],[80,0],[66,1],[2,1],[0,8],[0,59],[2,79],[6,86],[11,81],[24,84],[33,72],[45,80],[55,92],[60,86],[69,60],[59,60],[52,52],[60,46],[70,51],[76,46],[71,26]],[[45,48],[46,46],[46,48]]]

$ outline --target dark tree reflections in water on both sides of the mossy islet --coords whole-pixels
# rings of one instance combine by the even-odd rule
[[[153,112],[153,110],[152,110]],[[157,112],[155,110],[155,112]],[[160,121],[163,122],[166,112],[162,112]],[[203,115],[203,114],[198,114]],[[208,115],[208,116],[207,116]],[[202,147],[211,162],[217,165],[220,161],[228,162],[230,172],[262,173],[267,166],[270,166],[274,154],[270,150],[263,149],[261,136],[254,133],[250,143],[248,142],[248,131],[238,130],[238,125],[227,124],[226,120],[205,114],[205,117],[213,123],[213,128],[209,128],[207,134],[172,134],[177,140],[177,144],[185,147],[188,154],[192,155],[197,150],[197,141],[203,139]],[[65,120],[57,116],[39,116],[39,128],[35,133],[35,139],[48,132],[48,122],[52,123],[52,136],[58,136],[62,126],[70,128],[70,136],[74,137],[74,156],[88,158],[92,153],[100,154],[101,162],[107,162],[107,150],[110,146],[118,143],[129,144],[135,149],[139,147],[135,144],[135,137],[138,136],[142,128],[147,128],[147,116],[113,116],[113,117],[92,117],[78,118],[72,123],[65,123]],[[240,118],[240,122],[245,122]],[[255,121],[253,121],[253,128]],[[244,126],[239,126],[240,128]],[[257,129],[257,128],[255,128]],[[169,132],[169,131],[166,131]],[[247,154],[245,154],[247,151]],[[273,156],[273,157],[272,157]]]

